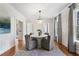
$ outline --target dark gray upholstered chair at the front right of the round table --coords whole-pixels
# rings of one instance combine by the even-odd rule
[[[41,40],[41,48],[50,50],[50,35]]]

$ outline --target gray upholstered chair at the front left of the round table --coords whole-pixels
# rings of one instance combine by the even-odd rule
[[[30,35],[25,35],[25,41],[26,41],[26,49],[32,50],[37,47],[37,40],[36,38],[31,38]]]

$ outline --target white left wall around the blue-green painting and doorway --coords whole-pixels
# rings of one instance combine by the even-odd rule
[[[0,54],[2,54],[15,45],[16,19],[25,22],[25,18],[9,4],[0,4],[0,17],[10,17],[11,19],[11,33],[0,34]],[[25,27],[26,26],[24,25],[24,28]],[[25,29],[23,30],[24,35]]]

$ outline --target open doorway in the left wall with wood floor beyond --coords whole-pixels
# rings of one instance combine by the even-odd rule
[[[16,41],[17,41],[17,50],[23,49],[23,22],[16,20]]]

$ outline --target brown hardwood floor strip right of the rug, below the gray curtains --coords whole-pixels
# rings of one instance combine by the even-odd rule
[[[67,47],[65,47],[63,44],[59,44],[55,41],[55,44],[60,48],[60,50],[66,54],[67,56],[79,56],[78,54],[76,53],[71,53],[68,51]]]

